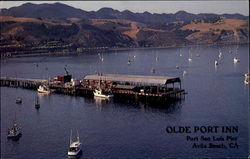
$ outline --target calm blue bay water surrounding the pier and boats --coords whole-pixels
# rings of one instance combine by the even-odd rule
[[[249,90],[243,81],[249,66],[248,46],[240,46],[238,51],[236,46],[193,47],[192,62],[187,60],[191,56],[188,49],[138,49],[1,60],[1,76],[5,77],[48,79],[64,74],[66,65],[76,79],[95,72],[178,76],[188,92],[185,100],[165,107],[59,94],[39,95],[41,108],[37,111],[36,91],[1,87],[1,157],[67,158],[70,130],[78,129],[83,143],[81,158],[246,158]],[[237,64],[233,63],[235,56],[240,59]],[[103,62],[100,57],[104,58]],[[128,59],[133,59],[131,65],[127,64]],[[215,60],[219,61],[217,68]],[[180,68],[176,69],[176,65]],[[150,73],[151,68],[155,68],[155,74]],[[188,74],[183,77],[184,70]],[[23,98],[21,105],[15,103],[18,96]],[[7,128],[15,118],[23,131],[18,141],[6,138]],[[239,132],[168,134],[165,130],[167,126],[203,125],[238,126]],[[231,135],[237,137],[239,148],[195,149],[193,142],[186,140],[187,135]]]

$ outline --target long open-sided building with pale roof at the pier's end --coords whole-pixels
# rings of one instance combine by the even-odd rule
[[[83,86],[89,89],[101,87],[112,91],[116,96],[137,97],[180,97],[181,89],[179,77],[169,76],[139,76],[122,74],[92,74],[84,77]]]

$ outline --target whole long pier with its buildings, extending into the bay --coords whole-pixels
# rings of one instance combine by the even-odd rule
[[[140,76],[119,74],[91,74],[82,80],[74,80],[71,75],[58,76],[54,80],[0,77],[0,86],[21,87],[36,90],[40,85],[48,85],[55,93],[93,96],[97,88],[111,92],[119,99],[146,101],[170,101],[184,97],[178,77]]]

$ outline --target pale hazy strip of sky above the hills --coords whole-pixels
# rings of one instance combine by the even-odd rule
[[[31,3],[55,3],[58,1],[29,1]],[[0,8],[19,6],[26,1],[1,1]],[[119,11],[130,10],[133,12],[150,13],[176,13],[185,10],[190,13],[240,13],[249,15],[248,0],[238,1],[61,1],[61,3],[80,8],[86,11],[111,7]]]

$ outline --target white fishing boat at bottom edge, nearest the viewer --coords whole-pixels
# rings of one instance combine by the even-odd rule
[[[80,142],[79,134],[77,131],[77,137],[76,140],[72,140],[72,130],[70,134],[70,146],[68,151],[68,156],[77,156],[82,151],[82,143]]]

